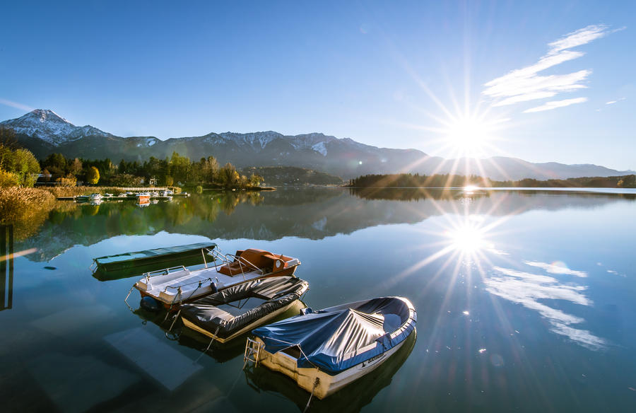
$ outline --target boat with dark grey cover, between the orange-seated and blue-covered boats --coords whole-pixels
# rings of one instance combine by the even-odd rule
[[[293,306],[300,310],[308,287],[307,281],[289,276],[247,281],[184,304],[181,320],[185,327],[225,343]]]

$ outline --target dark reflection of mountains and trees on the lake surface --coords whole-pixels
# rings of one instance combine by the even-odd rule
[[[73,245],[93,245],[117,235],[160,231],[210,239],[318,240],[370,226],[418,223],[432,216],[471,213],[510,216],[524,211],[594,208],[630,198],[621,194],[550,194],[461,190],[304,189],[274,192],[206,192],[140,209],[131,202],[100,205],[59,202],[37,233],[18,248],[38,248],[30,260],[49,261]],[[355,196],[351,196],[355,194]],[[394,202],[394,199],[413,202]],[[631,199],[630,199],[631,200]],[[35,231],[34,231],[35,232]]]

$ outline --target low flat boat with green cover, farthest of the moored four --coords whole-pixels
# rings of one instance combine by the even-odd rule
[[[167,263],[189,260],[192,257],[205,260],[205,255],[210,255],[211,250],[216,248],[216,243],[196,243],[187,245],[175,245],[174,247],[155,248],[154,250],[143,250],[135,252],[124,252],[117,255],[105,255],[104,257],[93,258],[91,265],[93,272],[100,273],[98,279],[113,279],[121,272],[129,269],[137,269],[136,274],[141,274],[144,270],[163,269]],[[198,263],[198,262],[197,262]],[[112,275],[112,277],[108,277]],[[132,274],[131,274],[132,275]]]

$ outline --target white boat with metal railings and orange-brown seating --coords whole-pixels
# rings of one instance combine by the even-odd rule
[[[298,258],[250,248],[236,254],[210,250],[213,265],[196,270],[184,266],[148,272],[133,288],[141,297],[152,297],[173,310],[184,303],[254,279],[293,275],[300,265]],[[127,299],[128,297],[126,297]]]

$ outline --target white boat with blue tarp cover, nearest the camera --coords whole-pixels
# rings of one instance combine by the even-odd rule
[[[375,370],[415,330],[411,301],[380,297],[297,315],[259,327],[245,359],[293,378],[319,399]]]

